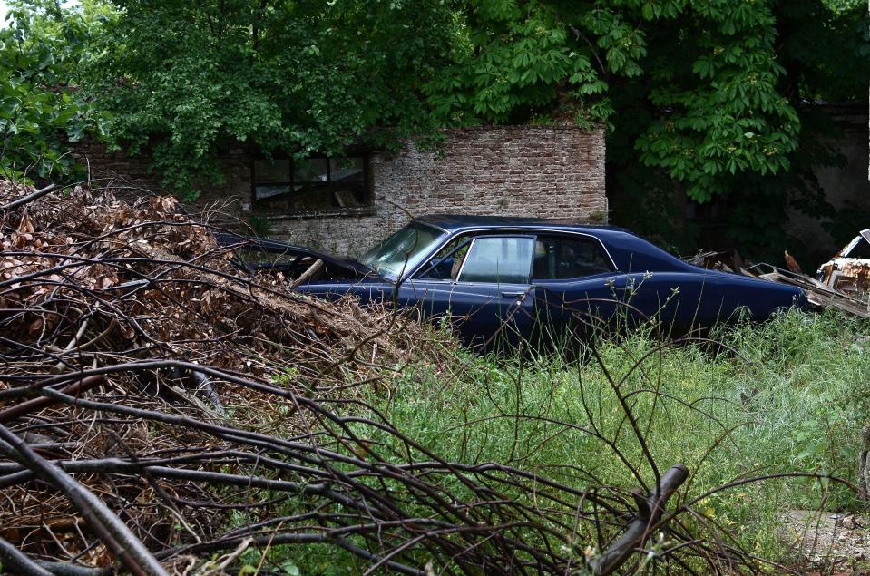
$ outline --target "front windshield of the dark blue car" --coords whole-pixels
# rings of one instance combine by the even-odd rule
[[[368,250],[359,261],[380,274],[398,278],[415,268],[429,253],[429,249],[445,236],[442,230],[411,222]]]

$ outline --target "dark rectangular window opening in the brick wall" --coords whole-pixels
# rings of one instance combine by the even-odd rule
[[[371,206],[368,158],[312,156],[258,158],[251,166],[253,205],[286,214],[334,212]]]

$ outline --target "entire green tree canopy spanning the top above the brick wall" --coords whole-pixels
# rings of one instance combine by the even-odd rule
[[[67,96],[111,112],[112,141],[150,151],[171,189],[220,181],[217,152],[240,143],[302,156],[438,126],[601,123],[609,193],[636,207],[621,223],[654,234],[675,191],[727,197],[750,249],[781,245],[789,206],[834,216],[812,170],[837,161],[832,124],[810,104],[864,100],[870,78],[864,0],[88,1],[70,19],[29,0],[19,40],[51,41],[55,69],[75,60]],[[87,50],[65,52],[67,20]]]

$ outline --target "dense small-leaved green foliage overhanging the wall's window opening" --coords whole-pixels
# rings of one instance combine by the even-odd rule
[[[426,0],[117,0],[88,92],[112,138],[173,190],[222,179],[218,151],[335,153],[425,130],[418,90],[453,37]]]

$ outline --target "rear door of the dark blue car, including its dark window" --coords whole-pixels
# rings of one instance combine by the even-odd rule
[[[582,234],[539,234],[532,283],[538,331],[560,341],[575,333],[610,330],[631,310],[634,275],[617,270],[599,239]]]

